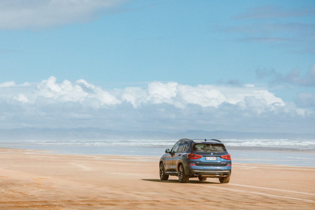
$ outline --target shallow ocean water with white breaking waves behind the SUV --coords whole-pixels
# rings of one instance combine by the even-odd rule
[[[234,163],[315,167],[315,140],[221,139]],[[170,140],[71,140],[0,142],[0,147],[48,150],[56,154],[160,157],[177,142]]]

